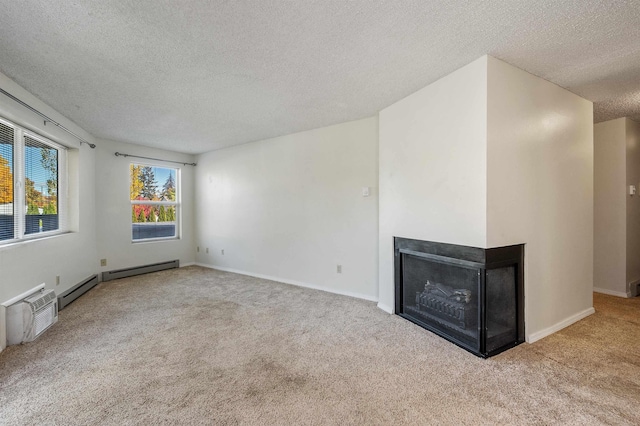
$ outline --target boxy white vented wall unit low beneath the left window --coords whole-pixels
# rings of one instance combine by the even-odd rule
[[[41,290],[7,307],[7,344],[31,342],[58,321],[53,290]]]

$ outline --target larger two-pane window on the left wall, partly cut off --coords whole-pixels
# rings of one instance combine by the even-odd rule
[[[66,231],[65,149],[0,120],[0,244]]]

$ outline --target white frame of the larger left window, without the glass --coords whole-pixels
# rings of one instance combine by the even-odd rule
[[[0,117],[0,123],[13,129],[13,229],[14,237],[6,240],[0,240],[0,246],[7,246],[10,244],[16,244],[25,241],[39,240],[43,238],[52,237],[55,235],[66,234],[69,232],[69,223],[67,218],[68,213],[68,174],[67,174],[67,151],[68,148],[51,139],[42,136],[32,130],[29,130],[19,124],[13,123],[3,117]],[[42,143],[50,148],[58,151],[58,165],[57,165],[57,216],[58,216],[58,229],[51,231],[35,232],[32,234],[26,233],[26,142],[25,136],[29,137],[37,142]],[[24,206],[21,209],[20,206]]]

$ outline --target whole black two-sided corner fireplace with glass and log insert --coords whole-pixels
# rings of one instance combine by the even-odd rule
[[[395,311],[481,357],[524,341],[524,245],[395,239]]]

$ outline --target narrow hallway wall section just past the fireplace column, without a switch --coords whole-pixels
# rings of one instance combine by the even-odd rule
[[[626,120],[594,126],[593,287],[626,294],[627,172]],[[636,183],[638,184],[638,183]],[[635,196],[640,201],[640,195]],[[637,216],[640,217],[640,216]]]

